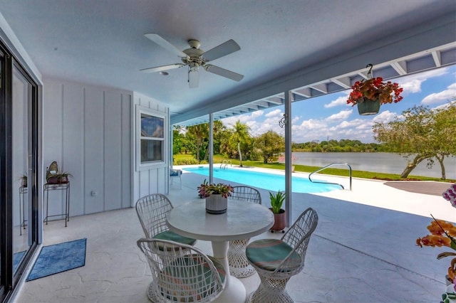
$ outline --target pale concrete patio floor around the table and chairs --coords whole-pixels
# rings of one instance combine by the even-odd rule
[[[179,181],[170,188],[173,205],[197,199],[203,179],[182,174],[182,189]],[[347,178],[338,181],[348,184]],[[445,248],[418,248],[415,239],[427,235],[430,213],[456,222],[456,208],[441,196],[383,183],[353,179],[352,191],[293,194],[293,219],[308,207],[319,217],[304,270],[286,287],[296,302],[440,301],[450,259],[437,260]],[[268,191],[259,190],[269,207]],[[50,222],[44,227],[43,245],[87,238],[86,265],[24,282],[14,302],[149,302],[150,270],[136,246],[142,236],[134,208],[71,217],[67,228],[63,221]],[[198,240],[196,246],[212,253],[207,241]],[[256,274],[241,281],[247,293],[259,285]]]

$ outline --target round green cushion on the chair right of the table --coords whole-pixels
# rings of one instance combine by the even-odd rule
[[[293,248],[281,240],[261,239],[250,243],[245,254],[255,266],[274,272],[291,250]],[[281,268],[281,272],[289,272],[301,266],[301,256],[297,252],[293,252],[289,261],[285,268]]]

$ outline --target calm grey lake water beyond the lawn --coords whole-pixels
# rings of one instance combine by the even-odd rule
[[[347,163],[356,171],[373,171],[387,174],[402,174],[407,159],[398,154],[386,152],[293,152],[294,164],[308,166],[326,166],[332,163]],[[413,158],[412,158],[413,159]],[[440,164],[435,161],[432,169],[427,169],[427,161],[423,161],[413,169],[409,176],[428,176],[440,178]],[[456,157],[445,158],[445,172],[447,179],[456,179]],[[334,166],[343,169],[344,166]],[[324,171],[323,171],[324,174]]]

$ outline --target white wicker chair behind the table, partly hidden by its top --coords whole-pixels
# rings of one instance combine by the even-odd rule
[[[261,195],[257,189],[249,186],[234,186],[234,192],[229,197],[230,201],[239,203],[259,203]],[[249,238],[229,241],[228,265],[229,272],[234,277],[249,277],[255,273],[254,267],[250,265],[245,255],[245,248],[249,244]]]

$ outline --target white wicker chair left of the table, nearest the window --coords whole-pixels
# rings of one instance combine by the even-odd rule
[[[152,193],[136,202],[136,213],[144,230],[145,238],[171,240],[194,245],[197,240],[177,235],[168,228],[166,216],[172,210],[172,203],[161,193]]]

